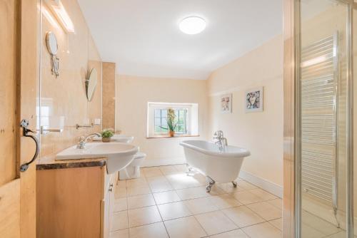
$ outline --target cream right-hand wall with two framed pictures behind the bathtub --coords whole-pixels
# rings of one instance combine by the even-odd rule
[[[283,185],[283,38],[276,36],[208,78],[208,135],[223,130],[229,145],[251,151],[242,170]],[[263,86],[264,110],[246,113],[244,93]],[[233,112],[221,114],[219,95],[233,94]]]

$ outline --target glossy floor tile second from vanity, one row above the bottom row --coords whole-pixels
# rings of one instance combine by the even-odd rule
[[[161,222],[159,209],[156,206],[129,209],[129,227],[138,227],[144,224]]]

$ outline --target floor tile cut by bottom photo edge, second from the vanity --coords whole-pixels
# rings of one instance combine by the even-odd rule
[[[163,222],[130,228],[129,234],[130,238],[169,238]]]

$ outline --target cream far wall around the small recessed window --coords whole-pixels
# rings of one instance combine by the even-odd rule
[[[185,138],[146,138],[148,102],[198,103],[198,132],[206,140],[206,81],[123,75],[116,78],[116,130],[135,137],[134,144],[139,145],[140,150],[147,154],[144,166],[185,161],[183,149],[178,145]]]

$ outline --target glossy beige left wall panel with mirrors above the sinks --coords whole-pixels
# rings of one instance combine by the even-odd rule
[[[79,4],[61,0],[74,23],[75,33],[66,33],[59,23],[51,24],[44,16],[41,29],[41,107],[48,106],[51,128],[59,128],[59,118],[64,118],[62,133],[41,135],[41,159],[75,145],[79,136],[101,130],[101,126],[76,130],[76,123],[88,125],[94,118],[101,118],[101,58],[91,38]],[[51,11],[43,4],[43,11]],[[55,18],[54,18],[55,19]],[[59,52],[59,78],[51,74],[51,56],[46,49],[46,32],[56,34]],[[91,68],[98,71],[98,84],[89,103],[86,99],[85,79]],[[41,110],[43,119],[44,110]]]

